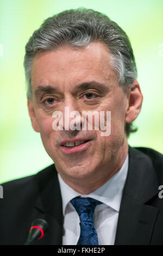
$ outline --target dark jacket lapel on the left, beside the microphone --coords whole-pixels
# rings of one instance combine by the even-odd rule
[[[54,164],[35,176],[39,190],[35,218],[43,218],[48,223],[47,234],[35,245],[62,245],[62,200],[57,170]]]

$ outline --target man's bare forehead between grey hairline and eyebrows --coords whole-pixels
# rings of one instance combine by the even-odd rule
[[[86,81],[101,83],[115,78],[110,52],[101,42],[83,48],[61,46],[55,51],[38,52],[32,63],[32,87],[55,84],[66,87]]]

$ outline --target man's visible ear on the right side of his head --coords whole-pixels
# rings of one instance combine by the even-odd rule
[[[134,80],[133,87],[129,89],[129,105],[126,112],[126,123],[133,122],[141,111],[143,95],[140,90],[139,83]]]

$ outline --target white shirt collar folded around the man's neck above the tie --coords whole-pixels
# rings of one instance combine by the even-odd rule
[[[73,190],[73,188],[68,186],[64,182],[64,180],[62,180],[60,174],[58,173],[58,179],[59,179],[61,197],[62,197],[63,214],[65,215],[67,204],[74,197],[78,197],[78,196],[94,198],[110,206],[112,209],[119,211],[123,187],[127,178],[127,172],[128,172],[128,155],[121,169],[114,176],[112,176],[111,179],[106,181],[105,184],[102,185],[101,187],[97,188],[97,190],[87,195],[80,194],[77,191]]]

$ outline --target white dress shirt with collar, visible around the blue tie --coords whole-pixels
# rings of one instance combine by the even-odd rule
[[[128,155],[122,168],[103,186],[90,194],[81,195],[68,186],[58,174],[64,215],[62,245],[77,245],[80,236],[79,215],[71,204],[74,197],[91,197],[101,201],[93,215],[93,223],[98,235],[99,245],[114,245],[117,221],[122,199],[123,187],[128,172]]]

